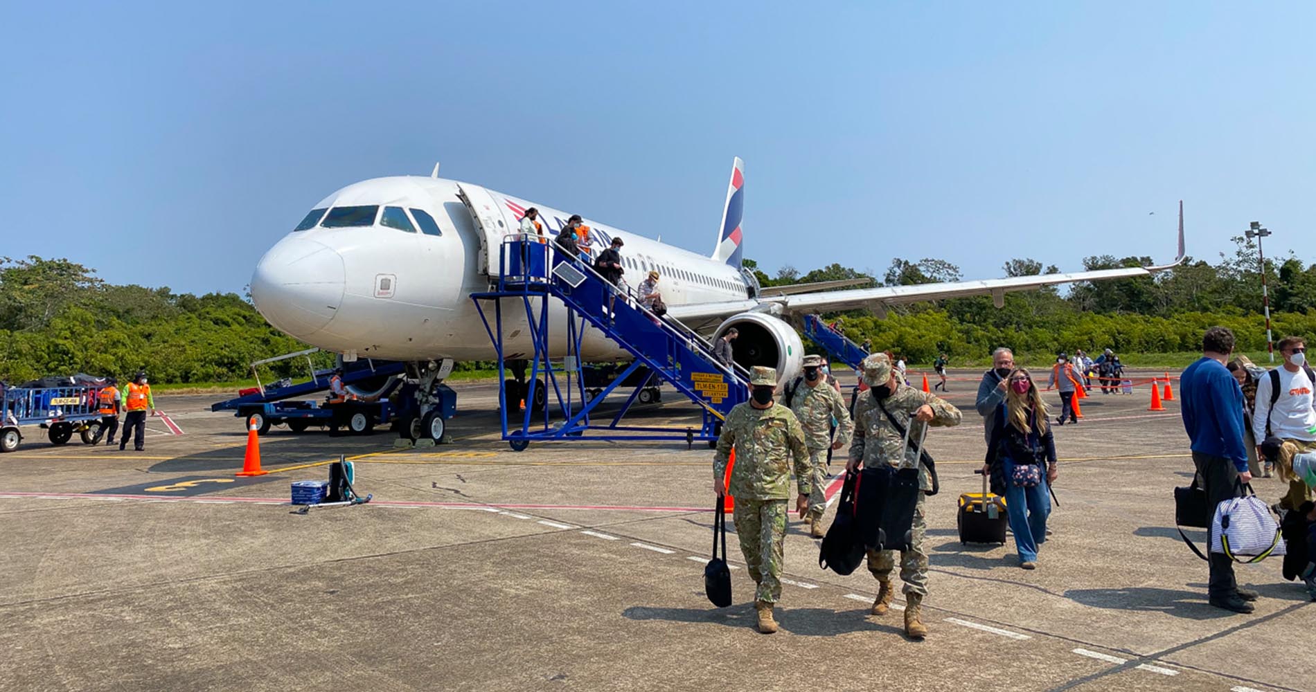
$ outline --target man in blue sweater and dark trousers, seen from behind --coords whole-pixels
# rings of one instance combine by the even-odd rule
[[[1242,443],[1242,389],[1225,368],[1233,345],[1233,332],[1223,326],[1208,329],[1202,337],[1202,358],[1179,379],[1183,428],[1192,441],[1192,463],[1207,493],[1208,524],[1217,504],[1240,495],[1237,482],[1252,482]],[[1220,553],[1209,556],[1207,596],[1211,605],[1236,613],[1253,612],[1249,601],[1257,600],[1257,592],[1238,588],[1229,556]]]

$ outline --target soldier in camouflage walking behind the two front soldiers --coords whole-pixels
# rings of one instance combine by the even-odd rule
[[[822,489],[826,485],[826,450],[838,450],[850,441],[850,412],[845,408],[845,400],[836,391],[822,374],[822,357],[804,357],[804,375],[797,378],[788,387],[791,412],[804,426],[804,443],[809,447],[809,464],[813,475],[809,484],[813,492],[809,495],[809,513],[804,522],[809,526],[809,535],[822,538],[822,512],[826,510],[826,497]],[[836,442],[832,441],[832,420],[836,420]]]

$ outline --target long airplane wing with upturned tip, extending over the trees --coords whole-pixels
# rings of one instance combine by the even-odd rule
[[[763,295],[758,300],[728,300],[720,303],[699,303],[694,305],[671,305],[667,313],[694,329],[703,329],[715,320],[721,320],[741,312],[767,312],[770,314],[791,316],[813,312],[846,310],[867,308],[884,316],[887,305],[917,303],[923,300],[942,300],[950,297],[986,296],[994,299],[996,307],[1005,303],[1005,293],[1028,291],[1044,285],[1074,282],[1101,282],[1150,276],[1178,266],[1183,262],[1183,203],[1179,203],[1179,254],[1174,262],[1154,267],[1124,267],[1117,270],[1079,271],[1073,274],[1038,274],[1033,276],[1011,276],[1007,279],[986,279],[979,282],[946,282],[916,285],[883,285],[875,288],[853,288],[849,291],[817,291],[796,295]]]

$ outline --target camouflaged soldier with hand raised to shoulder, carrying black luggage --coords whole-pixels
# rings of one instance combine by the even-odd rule
[[[854,439],[850,443],[850,460],[848,470],[857,470],[861,466],[876,466],[882,463],[898,468],[919,467],[919,487],[924,491],[932,489],[932,474],[925,466],[919,463],[919,454],[915,447],[928,425],[959,425],[959,409],[942,401],[934,395],[920,392],[900,380],[894,372],[891,359],[886,354],[873,354],[861,363],[862,378],[870,389],[862,395],[854,410]],[[880,400],[880,404],[879,404]],[[879,408],[880,407],[880,408]],[[900,450],[904,447],[904,435],[886,414],[886,408],[891,416],[909,432],[909,449],[904,458]],[[905,595],[905,634],[913,639],[926,637],[928,628],[923,624],[923,599],[928,595],[928,553],[924,550],[926,522],[924,521],[924,499],[919,495],[919,504],[913,516],[913,541],[909,550],[900,553],[900,580],[904,581]],[[891,571],[895,568],[894,550],[870,550],[869,571],[878,579],[878,597],[873,601],[873,614],[886,614],[891,608],[892,588]]]

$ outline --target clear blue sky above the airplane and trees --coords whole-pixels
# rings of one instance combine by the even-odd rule
[[[0,255],[241,291],[324,195],[484,184],[769,272],[1316,254],[1309,3],[18,4]],[[1149,212],[1155,212],[1150,214]]]

